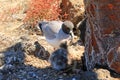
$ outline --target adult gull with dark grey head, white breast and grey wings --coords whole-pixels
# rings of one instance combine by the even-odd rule
[[[74,37],[74,25],[71,21],[42,21],[39,22],[39,28],[46,41],[54,48],[59,48],[61,43],[71,41]]]

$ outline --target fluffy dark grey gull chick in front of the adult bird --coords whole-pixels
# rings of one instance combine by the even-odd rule
[[[55,50],[49,57],[52,68],[57,71],[66,69],[71,63],[68,55],[67,45],[61,44],[60,48]]]

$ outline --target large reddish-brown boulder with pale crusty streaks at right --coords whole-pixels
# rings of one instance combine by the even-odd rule
[[[120,73],[120,0],[85,0],[87,69],[96,64]]]

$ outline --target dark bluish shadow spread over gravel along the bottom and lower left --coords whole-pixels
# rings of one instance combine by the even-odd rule
[[[41,45],[38,42],[34,44],[36,53],[41,54],[42,52],[39,51]],[[79,73],[74,73],[72,70],[67,71],[68,68],[63,71],[56,71],[50,66],[37,68],[25,64],[25,58],[28,55],[25,49],[23,43],[19,42],[7,48],[6,51],[0,52],[0,80],[98,80],[97,74],[93,71],[81,70]],[[41,55],[35,54],[35,56],[42,59]],[[38,62],[37,64],[42,63]],[[77,68],[80,69],[81,66],[82,63],[77,61]]]

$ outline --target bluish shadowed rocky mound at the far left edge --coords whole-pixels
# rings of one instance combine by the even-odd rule
[[[21,43],[7,48],[6,51],[0,52],[0,55],[0,71],[3,75],[16,71],[17,66],[24,64],[25,54]]]

